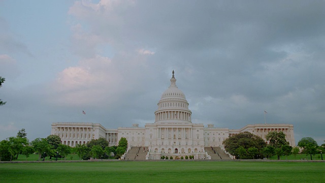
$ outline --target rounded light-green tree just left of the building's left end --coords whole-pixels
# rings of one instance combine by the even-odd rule
[[[54,148],[45,138],[37,138],[31,141],[31,145],[34,147],[35,152],[39,155],[39,161],[41,160],[42,156],[45,158],[53,155]]]

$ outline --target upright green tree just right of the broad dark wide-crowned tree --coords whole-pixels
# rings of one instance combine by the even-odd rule
[[[282,145],[289,144],[289,142],[285,140],[285,134],[283,132],[272,131],[268,133],[266,140],[270,141],[269,145],[275,148],[275,154],[277,155],[278,160],[280,160],[280,156],[283,153]]]

